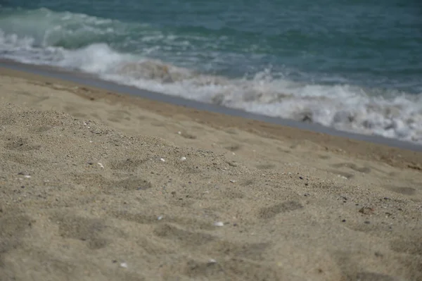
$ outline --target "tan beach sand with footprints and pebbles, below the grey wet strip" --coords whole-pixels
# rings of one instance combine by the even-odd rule
[[[0,69],[0,280],[422,280],[422,153]]]

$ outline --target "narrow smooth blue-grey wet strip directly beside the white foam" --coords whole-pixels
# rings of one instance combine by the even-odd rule
[[[271,125],[281,125],[283,127],[291,127],[299,130],[306,130],[315,133],[322,133],[331,135],[334,137],[343,137],[345,139],[352,139],[362,142],[371,142],[373,144],[381,144],[385,146],[392,146],[399,149],[408,149],[411,151],[422,151],[422,144],[414,142],[402,141],[399,139],[392,139],[387,137],[381,137],[376,135],[364,135],[354,132],[346,132],[336,130],[333,127],[326,127],[317,123],[305,123],[296,120],[290,120],[285,118],[274,118],[267,115],[261,115],[257,113],[249,113],[236,108],[228,108],[225,106],[217,106],[215,104],[207,104],[200,101],[193,101],[185,99],[180,96],[171,96],[162,94],[159,92],[151,92],[144,89],[139,89],[132,86],[120,85],[115,82],[102,80],[96,75],[89,73],[82,73],[72,70],[66,70],[64,68],[52,67],[49,65],[32,65],[26,63],[18,63],[10,60],[0,60],[0,68],[6,69],[1,70],[1,73],[7,73],[7,70],[16,70],[21,73],[39,75],[44,77],[43,79],[49,80],[51,78],[58,79],[70,83],[84,85],[87,87],[94,87],[106,92],[115,92],[118,94],[127,94],[131,96],[140,97],[142,99],[149,99],[151,101],[158,101],[165,104],[171,104],[174,106],[183,106],[191,108],[193,110],[200,110],[210,113],[220,113],[228,116],[234,116],[238,118],[245,118],[263,123],[269,123]],[[19,75],[19,74],[17,74]],[[37,78],[35,78],[37,79]]]

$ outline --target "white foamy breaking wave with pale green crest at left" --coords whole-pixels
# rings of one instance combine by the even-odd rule
[[[253,113],[422,143],[422,94],[347,85],[347,81],[296,82],[271,68],[242,77],[206,74],[177,66],[171,59],[153,58],[148,51],[124,51],[124,42],[133,41],[128,29],[132,37],[134,29],[141,37],[136,44],[146,44],[146,49],[162,47],[157,41],[160,32],[148,25],[134,27],[47,9],[4,9],[0,57],[79,70],[124,85]],[[119,47],[115,42],[120,42]]]

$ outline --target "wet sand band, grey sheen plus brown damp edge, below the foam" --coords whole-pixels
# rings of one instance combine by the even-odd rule
[[[4,66],[8,66],[8,68]],[[327,151],[334,151],[338,154],[350,154],[363,159],[381,160],[391,166],[422,171],[422,146],[418,144],[383,137],[349,134],[320,125],[292,120],[267,118],[236,109],[117,85],[113,82],[100,80],[92,75],[84,75],[84,73],[72,73],[69,70],[57,72],[56,68],[49,66],[39,67],[39,65],[20,63],[6,64],[6,62],[1,61],[0,75],[22,77],[26,80],[41,83],[46,87],[54,84],[65,85],[69,92],[89,101],[105,100],[111,104],[135,105],[143,110],[167,117],[184,115],[191,120],[196,120],[211,127],[236,127],[272,139],[313,142],[325,147]],[[213,109],[217,112],[212,111]],[[254,117],[263,120],[254,120],[252,119]],[[267,122],[268,120],[270,122]],[[271,123],[271,120],[281,124]],[[298,127],[295,127],[295,125],[298,125]],[[315,128],[322,129],[324,132],[312,130]],[[326,131],[334,132],[334,134],[331,135]],[[335,133],[340,136],[335,135]],[[352,137],[358,139],[352,139]],[[363,138],[363,140],[359,138]],[[368,139],[371,141],[368,141]]]

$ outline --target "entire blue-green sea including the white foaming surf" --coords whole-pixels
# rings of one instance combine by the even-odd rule
[[[0,5],[0,58],[422,143],[419,0]]]

